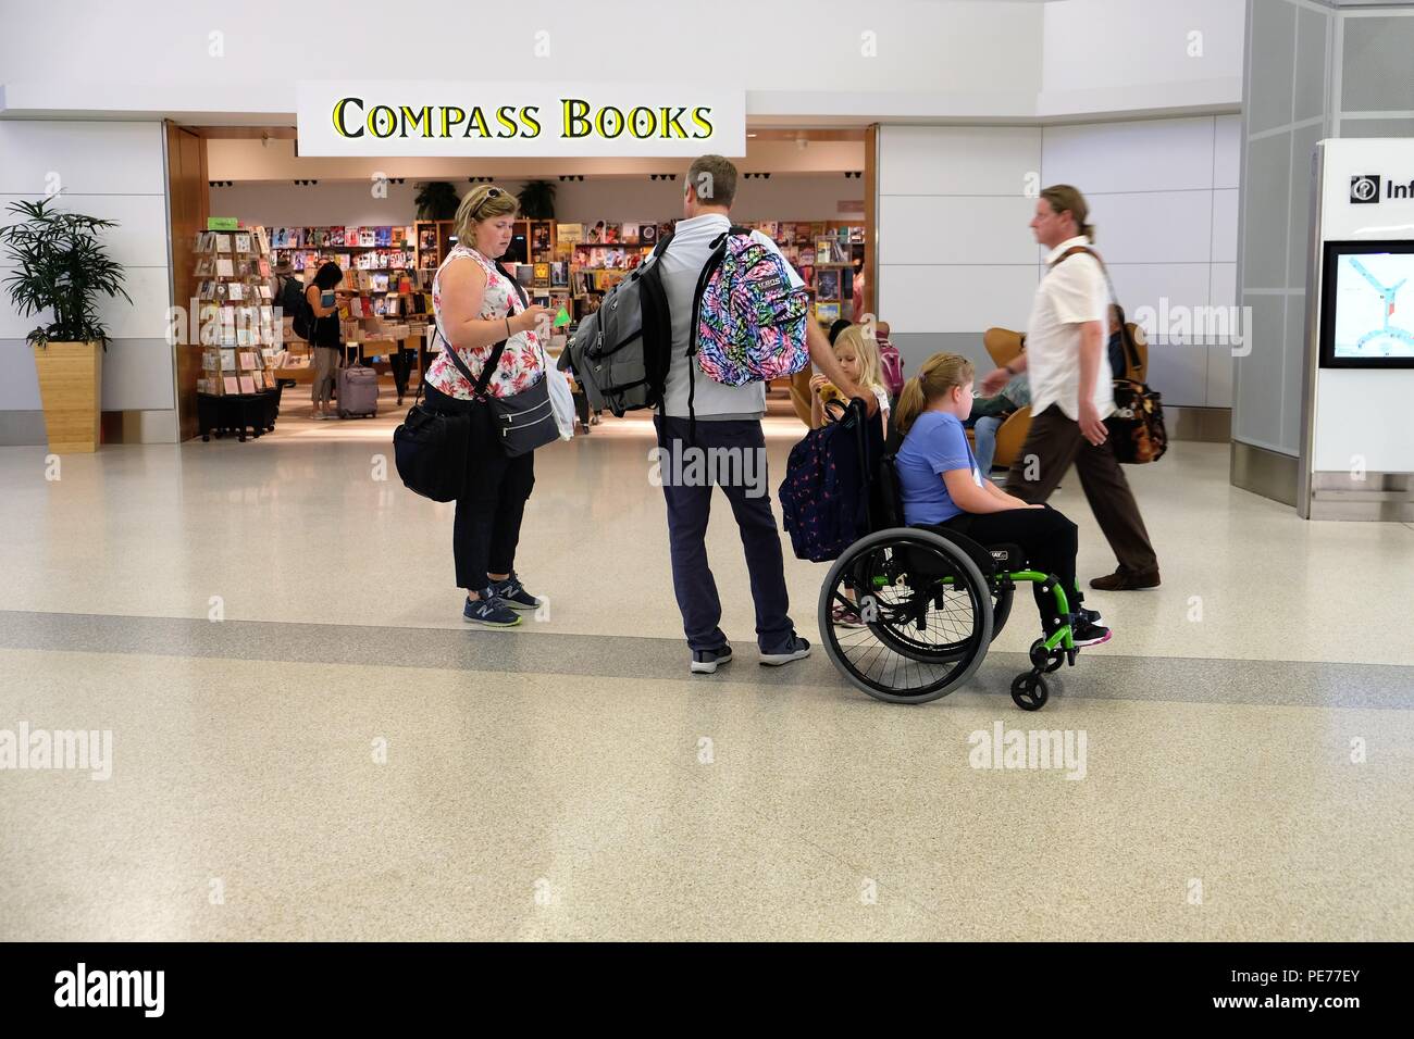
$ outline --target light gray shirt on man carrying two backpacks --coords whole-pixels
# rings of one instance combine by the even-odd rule
[[[677,418],[687,418],[687,346],[693,322],[693,295],[697,293],[697,278],[707,266],[711,256],[711,243],[724,230],[731,228],[731,221],[721,213],[693,216],[679,221],[673,230],[673,240],[667,243],[663,254],[658,257],[659,274],[663,280],[663,291],[667,295],[667,311],[673,322],[673,358],[667,369],[667,383],[663,387],[663,407],[660,414]],[[778,256],[781,250],[776,243],[759,230],[751,236],[772,249]],[[790,284],[796,288],[805,286],[795,269],[782,257]],[[697,363],[693,360],[691,363]],[[707,421],[723,421],[727,418],[761,418],[766,411],[766,385],[751,382],[745,386],[724,386],[701,370],[696,372],[696,394],[693,396],[693,414]]]

